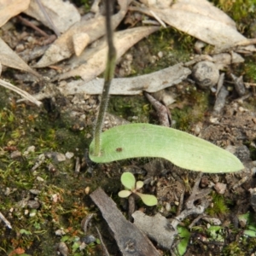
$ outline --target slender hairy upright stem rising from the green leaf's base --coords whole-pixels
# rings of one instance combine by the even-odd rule
[[[105,70],[104,86],[102,91],[102,101],[100,104],[100,109],[98,117],[96,120],[96,130],[95,130],[95,152],[94,155],[99,156],[101,154],[101,133],[102,124],[104,121],[105,113],[108,107],[108,94],[110,89],[110,84],[113,79],[113,72],[116,60],[116,50],[113,45],[113,30],[111,26],[111,3],[112,0],[106,0],[106,29],[107,29],[107,40],[108,40],[108,60],[107,67]]]

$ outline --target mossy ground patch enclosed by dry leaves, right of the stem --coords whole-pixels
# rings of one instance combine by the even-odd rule
[[[192,42],[195,39],[171,27],[154,32],[129,50],[133,55],[131,76],[153,73],[189,61]],[[163,53],[161,58],[158,56],[159,52]]]

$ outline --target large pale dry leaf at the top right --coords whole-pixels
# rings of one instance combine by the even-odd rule
[[[152,16],[152,11],[168,25],[218,48],[230,47],[245,39],[223,11],[206,0],[177,0],[171,6],[131,8]],[[150,12],[151,11],[151,12]]]

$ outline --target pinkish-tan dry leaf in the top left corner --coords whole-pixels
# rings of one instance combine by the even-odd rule
[[[1,0],[0,26],[3,26],[10,18],[26,10],[29,3],[30,0]]]

